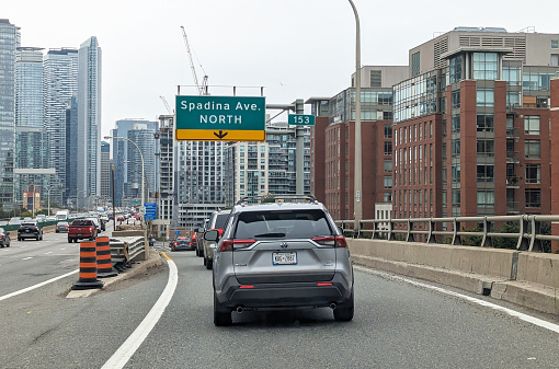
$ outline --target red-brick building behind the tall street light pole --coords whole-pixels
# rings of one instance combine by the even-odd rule
[[[369,66],[363,67],[361,74],[361,201],[367,204],[363,219],[372,219],[377,209],[390,208],[392,200],[392,85],[408,77],[408,67]],[[312,189],[334,219],[353,219],[355,89],[328,100],[328,107],[324,99],[307,103],[321,115],[312,130]],[[323,178],[323,185],[318,178]]]

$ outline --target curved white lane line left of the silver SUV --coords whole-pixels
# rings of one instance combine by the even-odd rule
[[[130,336],[122,344],[121,347],[111,356],[101,369],[116,369],[124,368],[126,362],[130,359],[134,353],[138,349],[141,343],[146,339],[148,334],[151,332],[153,326],[163,314],[167,305],[173,297],[179,280],[179,274],[176,272],[176,265],[173,261],[168,260],[169,263],[169,280],[167,281],[166,289],[161,292],[161,296],[157,300],[156,304],[149,313],[144,318],[141,323],[138,325]]]

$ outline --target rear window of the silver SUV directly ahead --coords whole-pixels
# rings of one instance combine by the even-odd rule
[[[243,211],[239,215],[235,239],[269,237],[297,239],[331,235],[322,210]]]

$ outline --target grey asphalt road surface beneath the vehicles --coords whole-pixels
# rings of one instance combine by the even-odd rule
[[[166,262],[88,298],[65,298],[76,274],[2,299],[76,269],[78,250],[65,242],[49,234],[42,244],[0,250],[1,368],[101,368],[168,285]],[[178,268],[176,289],[125,368],[559,366],[558,333],[365,268],[355,273],[352,322],[335,322],[326,308],[235,313],[232,326],[216,327],[212,272],[194,252],[168,255]]]

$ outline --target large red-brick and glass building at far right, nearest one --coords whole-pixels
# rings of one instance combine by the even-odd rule
[[[457,27],[393,88],[393,217],[550,212],[559,34]]]

